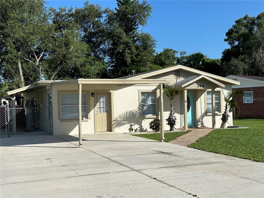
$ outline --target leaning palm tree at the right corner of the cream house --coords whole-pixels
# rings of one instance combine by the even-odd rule
[[[225,110],[224,113],[222,114],[222,124],[220,128],[225,128],[225,124],[228,121],[229,113],[234,112],[234,118],[236,118],[239,115],[239,107],[237,105],[237,100],[235,98],[232,98],[233,96],[241,94],[242,96],[245,96],[245,92],[240,90],[240,89],[234,89],[231,90],[225,95],[224,101],[225,101]],[[231,99],[232,98],[232,99]]]

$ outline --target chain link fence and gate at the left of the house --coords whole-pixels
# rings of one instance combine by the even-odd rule
[[[51,107],[8,108],[1,106],[1,137],[43,131],[51,135]]]

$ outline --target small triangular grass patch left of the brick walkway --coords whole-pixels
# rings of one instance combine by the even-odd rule
[[[186,133],[188,133],[189,131],[182,131],[182,132],[169,132],[169,133],[164,133],[164,138],[165,141],[164,142],[169,142],[171,140],[174,140],[175,138],[178,138]],[[131,134],[134,136],[138,136],[141,138],[148,138],[148,139],[152,139],[152,140],[157,140],[160,141],[161,140],[161,134],[158,133],[152,133],[152,134]]]

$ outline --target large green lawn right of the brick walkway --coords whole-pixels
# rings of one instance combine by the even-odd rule
[[[237,119],[233,125],[248,129],[214,129],[188,147],[264,162],[264,119]]]

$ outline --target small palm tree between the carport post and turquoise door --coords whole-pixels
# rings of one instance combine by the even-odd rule
[[[177,84],[177,79],[176,79],[176,83],[175,86],[173,87],[173,84],[170,83],[164,83],[162,84],[162,90],[163,92],[166,94],[166,96],[169,98],[170,102],[171,102],[171,111],[169,112],[169,117],[166,119],[166,121],[168,122],[167,125],[170,126],[170,131],[174,131],[175,130],[175,124],[176,124],[176,116],[174,115],[174,102],[173,99],[176,97],[176,84]],[[159,89],[159,85],[157,86],[157,88]]]

